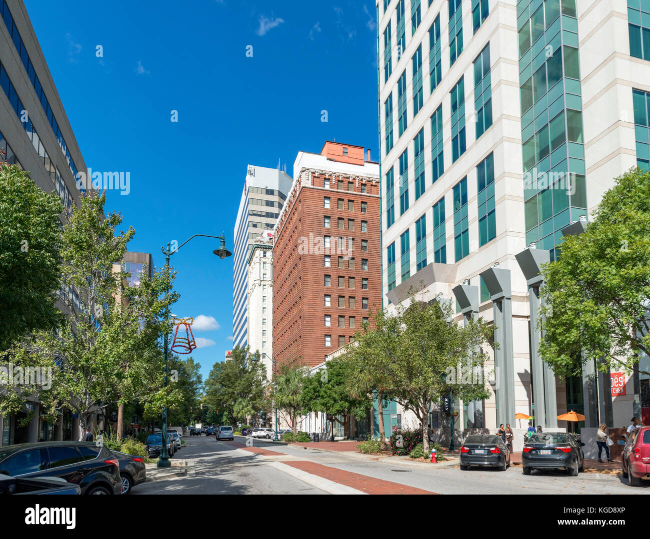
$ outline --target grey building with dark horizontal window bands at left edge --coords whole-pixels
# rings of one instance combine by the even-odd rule
[[[80,202],[77,171],[86,170],[70,121],[47,68],[29,15],[21,0],[0,0],[0,159],[29,171],[32,181],[45,192],[59,194],[62,223]],[[60,290],[60,299],[79,301],[72,288]],[[62,301],[57,308],[68,312]],[[79,420],[62,410],[54,425],[41,419],[40,403],[28,399],[34,412],[0,416],[0,446],[37,440],[75,440]]]

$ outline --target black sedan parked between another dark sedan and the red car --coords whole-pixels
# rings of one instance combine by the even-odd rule
[[[584,471],[584,444],[565,432],[536,432],[523,447],[524,475],[532,470],[568,470],[573,477]]]

